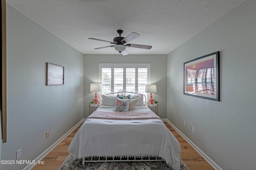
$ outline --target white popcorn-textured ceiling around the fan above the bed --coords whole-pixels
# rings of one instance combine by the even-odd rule
[[[244,0],[6,0],[6,3],[84,54],[114,54],[116,30],[122,37],[140,37],[129,43],[129,54],[168,54]]]

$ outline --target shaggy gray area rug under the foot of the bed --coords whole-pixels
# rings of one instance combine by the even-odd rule
[[[180,159],[180,170],[189,170]],[[172,170],[164,161],[156,162],[85,162],[82,159],[74,160],[70,154],[59,170]]]

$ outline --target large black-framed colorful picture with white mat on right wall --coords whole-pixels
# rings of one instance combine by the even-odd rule
[[[184,63],[184,94],[220,101],[220,52]]]

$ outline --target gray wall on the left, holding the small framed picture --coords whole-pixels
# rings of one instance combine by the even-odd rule
[[[19,160],[34,160],[83,118],[84,55],[9,5],[6,17],[7,143],[1,159],[16,160],[21,148]],[[65,67],[63,86],[46,86],[46,62]]]

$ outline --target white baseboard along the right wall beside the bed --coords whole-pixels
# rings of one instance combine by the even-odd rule
[[[162,121],[166,121],[169,123],[173,129],[180,134],[181,137],[183,137],[188,144],[190,144],[215,170],[222,170],[218,164],[216,164],[209,156],[207,156],[198,146],[196,146],[186,135],[184,135],[176,126],[174,126],[168,119],[162,119]]]

